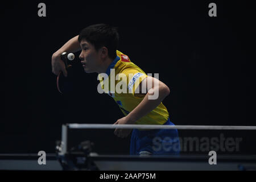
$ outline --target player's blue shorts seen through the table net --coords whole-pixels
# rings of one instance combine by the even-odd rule
[[[164,125],[174,125],[174,123],[168,118]],[[140,155],[143,152],[150,152],[152,155],[178,155],[180,142],[177,129],[133,129],[130,155]]]

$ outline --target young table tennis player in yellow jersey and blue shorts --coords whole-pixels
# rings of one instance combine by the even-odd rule
[[[113,27],[106,24],[86,27],[79,36],[75,36],[53,53],[52,72],[57,75],[62,71],[64,76],[67,76],[65,65],[60,59],[61,53],[81,50],[79,58],[84,71],[99,74],[100,88],[113,97],[125,115],[114,125],[174,125],[169,119],[166,107],[162,104],[162,100],[170,94],[170,89],[157,78],[147,76],[127,55],[117,51],[118,41],[118,32]],[[105,76],[102,73],[105,73]],[[118,84],[123,92],[119,92],[120,89],[115,90]],[[114,134],[124,138],[131,131],[115,129]],[[179,154],[177,130],[133,129],[130,154]]]

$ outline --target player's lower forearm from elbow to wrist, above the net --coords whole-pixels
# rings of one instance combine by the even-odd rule
[[[159,92],[158,98],[155,100],[149,100],[148,96],[154,96],[155,92]],[[135,123],[138,121],[138,119],[142,118],[144,115],[154,110],[155,107],[159,106],[159,104],[164,100],[164,98],[166,98],[166,96],[168,96],[168,94],[170,94],[170,89],[166,85],[159,85],[158,87],[151,88],[141,103],[127,115],[131,121],[131,124]]]

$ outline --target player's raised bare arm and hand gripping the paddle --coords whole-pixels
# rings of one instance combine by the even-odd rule
[[[58,75],[61,72],[64,73],[64,76],[67,76],[67,70],[65,68],[65,64],[63,61],[61,61],[61,53],[63,52],[77,52],[80,51],[80,45],[78,41],[78,35],[74,38],[68,40],[67,43],[63,45],[59,50],[57,50],[52,55],[52,73],[55,75]]]

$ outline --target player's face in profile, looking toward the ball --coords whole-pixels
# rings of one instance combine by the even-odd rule
[[[101,68],[101,60],[94,46],[84,39],[81,40],[80,46],[82,51],[79,58],[81,60],[82,67],[84,67],[84,71],[86,73],[98,73]]]

